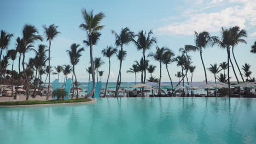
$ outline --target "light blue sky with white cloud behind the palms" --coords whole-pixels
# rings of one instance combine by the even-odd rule
[[[72,43],[80,44],[85,48],[79,64],[76,66],[76,73],[79,82],[88,81],[88,73],[85,68],[89,67],[90,54],[89,47],[82,41],[86,39],[85,32],[79,28],[83,23],[82,8],[94,10],[95,13],[102,11],[106,17],[102,21],[105,25],[101,31],[102,36],[98,44],[94,46],[94,57],[103,57],[101,50],[108,45],[114,46],[114,36],[110,30],[120,32],[123,27],[129,27],[131,31],[137,33],[142,29],[150,31],[153,29],[154,37],[158,39],[158,46],[167,46],[175,54],[180,55],[178,49],[184,45],[194,45],[194,31],[208,31],[211,35],[219,36],[221,27],[229,28],[231,26],[240,26],[246,29],[248,33],[247,44],[240,44],[235,47],[235,55],[238,64],[249,63],[252,65],[252,76],[255,77],[256,65],[255,58],[249,52],[251,45],[256,40],[256,1],[255,0],[182,0],[182,1],[1,1],[1,22],[0,29],[14,33],[9,49],[14,49],[16,37],[21,36],[21,29],[25,23],[30,23],[38,28],[39,34],[43,35],[42,25],[55,23],[59,26],[61,34],[52,42],[51,64],[63,65],[69,63],[66,50]],[[37,45],[40,43],[35,43]],[[48,45],[48,42],[43,41]],[[124,46],[127,51],[127,57],[123,62],[122,77],[123,81],[135,81],[133,74],[126,74],[126,70],[131,67],[135,60],[142,57],[141,51],[136,49],[134,44]],[[147,53],[154,52],[153,46]],[[190,52],[193,65],[196,66],[194,81],[203,81],[203,69],[198,52]],[[26,58],[34,57],[34,52],[29,52]],[[102,58],[104,64],[100,70],[105,73],[103,81],[107,80],[108,63],[106,58]],[[206,68],[210,64],[226,61],[226,51],[217,46],[207,47],[203,51],[203,59]],[[149,58],[150,64],[158,68],[154,76],[159,77],[159,64],[152,58]],[[15,69],[18,62],[15,61]],[[110,82],[117,80],[119,62],[116,57],[112,57],[112,69]],[[10,67],[9,67],[10,68]],[[174,76],[178,68],[175,63],[169,66],[173,81],[177,81]],[[208,72],[208,80],[214,80],[213,75]],[[70,75],[71,76],[71,75]],[[232,80],[235,77],[231,71]],[[138,79],[140,76],[138,76]],[[190,77],[190,74],[189,74]],[[52,80],[57,76],[51,76]],[[240,78],[240,77],[239,77]],[[60,76],[61,81],[63,75]],[[240,78],[241,80],[241,78]],[[162,81],[169,81],[166,69],[162,70]]]

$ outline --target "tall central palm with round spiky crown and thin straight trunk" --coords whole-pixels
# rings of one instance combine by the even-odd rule
[[[138,50],[142,50],[143,53],[143,62],[144,65],[146,63],[146,50],[149,50],[150,47],[152,47],[153,44],[156,44],[156,38],[152,36],[153,31],[150,30],[147,34],[145,31],[139,31],[138,34],[135,35],[138,39],[132,39],[132,41],[135,43],[137,46]],[[146,81],[146,69],[144,70],[144,80],[143,83]]]

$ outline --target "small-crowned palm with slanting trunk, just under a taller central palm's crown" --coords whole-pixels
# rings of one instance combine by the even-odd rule
[[[119,72],[118,72],[118,83],[117,83],[117,87],[116,87],[116,89],[115,89],[115,95],[114,95],[114,97],[117,97],[118,96],[118,90],[119,90],[119,87],[120,87],[120,85],[121,85],[121,65],[122,65],[122,63],[121,62],[123,62],[124,61],[124,59],[125,59],[125,57],[127,56],[127,52],[126,51],[122,51],[122,50],[119,50],[118,51],[118,53],[117,53],[117,58],[118,58],[118,60],[120,61],[120,63],[119,63]]]

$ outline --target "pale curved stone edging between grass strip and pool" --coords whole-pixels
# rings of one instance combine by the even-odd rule
[[[77,103],[56,103],[56,104],[35,104],[35,105],[0,105],[0,108],[4,107],[33,107],[33,106],[53,106],[53,105],[78,105],[78,104],[93,104],[97,99],[89,98],[90,101],[77,102]]]

